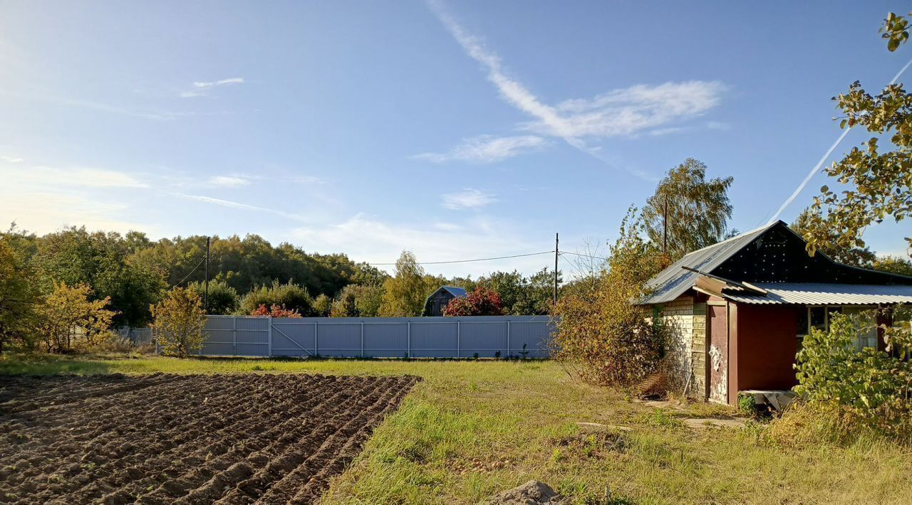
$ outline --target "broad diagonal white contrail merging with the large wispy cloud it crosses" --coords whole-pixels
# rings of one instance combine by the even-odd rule
[[[637,85],[608,91],[594,98],[567,100],[551,106],[535,96],[523,83],[508,76],[503,62],[482,40],[470,34],[447,11],[441,0],[429,0],[431,10],[466,54],[488,72],[488,80],[505,102],[532,116],[523,129],[538,135],[555,136],[568,145],[596,157],[606,165],[652,179],[637,170],[617,167],[601,155],[592,139],[631,136],[637,133],[700,116],[718,106],[725,86],[718,81],[688,81],[658,86]]]

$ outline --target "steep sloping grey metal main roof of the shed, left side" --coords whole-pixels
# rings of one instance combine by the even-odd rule
[[[690,272],[681,267],[711,272],[713,268],[719,267],[726,259],[734,256],[742,248],[747,247],[766,230],[780,223],[782,225],[785,224],[782,221],[776,221],[685,255],[684,258],[675,261],[670,267],[662,270],[656,277],[649,280],[648,287],[653,288],[654,291],[652,295],[644,298],[639,303],[643,305],[666,303],[678,298],[689,288],[693,287],[694,281],[700,275],[697,272]]]

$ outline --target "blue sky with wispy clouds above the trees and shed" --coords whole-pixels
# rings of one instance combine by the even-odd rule
[[[876,33],[901,5],[642,4],[6,1],[0,218],[371,262],[580,251],[696,157],[746,230],[839,136],[829,98],[909,57]],[[908,227],[865,239],[904,254]]]

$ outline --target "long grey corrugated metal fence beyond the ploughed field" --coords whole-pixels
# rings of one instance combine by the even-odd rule
[[[254,318],[211,316],[207,356],[547,358],[547,316]],[[523,345],[525,348],[523,349]]]

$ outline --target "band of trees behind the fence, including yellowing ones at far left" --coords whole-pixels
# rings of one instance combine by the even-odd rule
[[[403,251],[389,275],[344,254],[273,246],[257,235],[210,237],[207,290],[206,239],[153,241],[136,231],[85,227],[38,236],[12,225],[0,233],[0,346],[44,342],[45,350],[66,351],[74,342],[93,345],[102,330],[150,324],[151,308],[174,288],[204,298],[208,314],[415,317],[422,315],[425,298],[444,285],[495,291],[503,314],[550,310],[554,273],[547,268],[532,276],[513,270],[444,278],[430,275]],[[42,321],[53,321],[48,324],[55,328]]]

